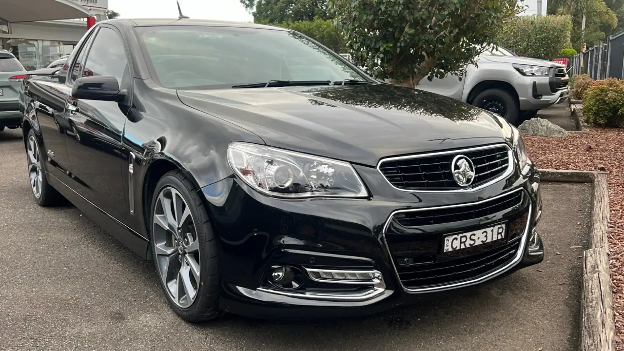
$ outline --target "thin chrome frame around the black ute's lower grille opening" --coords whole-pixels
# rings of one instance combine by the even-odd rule
[[[515,267],[515,265],[519,264],[520,261],[522,261],[522,257],[524,256],[524,250],[526,249],[526,244],[527,244],[527,237],[529,236],[529,230],[532,224],[532,218],[533,218],[533,204],[532,202],[529,200],[529,217],[527,218],[527,225],[525,226],[524,232],[522,233],[522,237],[520,239],[520,246],[518,248],[518,252],[515,254],[514,259],[509,262],[508,264],[504,265],[503,267],[499,267],[498,269],[490,272],[489,274],[483,275],[482,277],[479,278],[475,278],[475,279],[470,279],[467,280],[465,282],[456,282],[456,283],[451,283],[451,284],[445,284],[445,285],[437,285],[437,286],[433,286],[433,287],[423,287],[423,288],[417,288],[417,289],[408,289],[407,287],[405,287],[405,285],[403,285],[403,282],[401,281],[401,277],[399,277],[399,272],[396,269],[396,265],[394,264],[394,258],[392,257],[392,254],[390,252],[390,247],[388,246],[388,242],[386,241],[386,229],[388,229],[388,225],[390,224],[390,221],[392,220],[392,217],[394,217],[394,215],[396,215],[397,213],[401,213],[401,212],[416,212],[416,211],[423,211],[423,210],[432,210],[432,209],[449,209],[449,208],[454,208],[454,207],[463,207],[463,206],[469,206],[469,205],[475,205],[475,204],[482,204],[484,202],[488,202],[494,199],[498,199],[499,197],[503,197],[505,195],[509,195],[512,194],[514,192],[517,191],[524,191],[525,196],[528,197],[528,194],[526,192],[526,190],[524,190],[524,188],[518,188],[509,192],[504,192],[502,194],[496,195],[494,197],[490,197],[489,199],[485,199],[485,200],[480,200],[477,202],[469,202],[467,204],[458,204],[458,205],[447,205],[447,206],[437,206],[437,207],[424,207],[422,209],[407,209],[407,210],[396,210],[394,212],[392,212],[389,216],[388,219],[386,220],[386,224],[384,224],[384,228],[383,228],[383,232],[382,232],[382,236],[381,236],[381,241],[383,242],[383,245],[386,249],[386,252],[388,252],[389,255],[389,259],[390,262],[392,263],[392,268],[394,269],[394,275],[396,278],[396,281],[401,285],[402,289],[404,292],[407,292],[408,294],[424,294],[424,293],[428,293],[428,292],[439,292],[439,291],[444,291],[444,290],[451,290],[451,289],[457,289],[460,287],[467,287],[470,285],[475,285],[475,284],[479,284],[482,282],[485,282],[486,280],[490,280],[494,277],[497,277],[501,274],[504,274],[505,272],[507,272],[508,270],[512,269]]]

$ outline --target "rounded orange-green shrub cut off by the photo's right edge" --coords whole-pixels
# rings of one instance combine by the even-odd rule
[[[615,78],[594,82],[585,92],[583,114],[588,123],[624,127],[624,82]]]

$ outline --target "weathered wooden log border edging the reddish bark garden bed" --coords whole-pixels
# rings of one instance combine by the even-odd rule
[[[607,172],[540,169],[544,182],[592,182],[589,247],[583,252],[580,351],[615,351],[613,292],[609,270]]]

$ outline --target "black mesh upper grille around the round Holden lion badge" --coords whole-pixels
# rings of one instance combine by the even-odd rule
[[[470,187],[477,187],[504,174],[512,162],[509,148],[495,145],[477,150],[467,149],[439,154],[393,157],[382,160],[379,171],[390,184],[405,190],[457,190],[464,189],[453,179],[451,162],[464,155],[474,164],[475,177]]]

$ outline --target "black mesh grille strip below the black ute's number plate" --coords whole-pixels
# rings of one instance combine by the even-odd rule
[[[520,238],[516,238],[509,244],[476,255],[431,264],[397,267],[397,273],[407,289],[461,282],[508,264],[514,259],[519,246]]]

